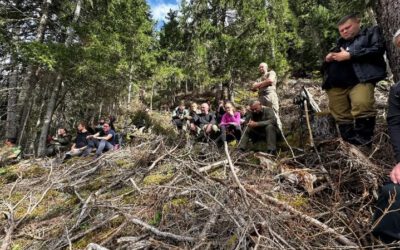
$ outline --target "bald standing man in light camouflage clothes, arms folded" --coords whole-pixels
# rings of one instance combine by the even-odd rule
[[[258,91],[258,100],[261,105],[271,107],[274,112],[279,114],[279,100],[276,94],[276,73],[273,70],[268,71],[266,63],[260,63],[258,70],[261,78],[253,83],[251,90]]]

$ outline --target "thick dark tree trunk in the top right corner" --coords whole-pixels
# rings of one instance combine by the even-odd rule
[[[400,49],[392,43],[393,34],[400,28],[400,2],[378,0],[375,11],[378,24],[382,27],[386,38],[387,56],[395,81],[400,80]]]

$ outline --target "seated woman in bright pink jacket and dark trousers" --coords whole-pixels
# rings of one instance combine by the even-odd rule
[[[221,128],[221,139],[226,141],[227,135],[232,135],[236,140],[240,140],[242,129],[240,127],[240,113],[236,111],[232,102],[225,103],[225,114],[221,118],[219,124]]]

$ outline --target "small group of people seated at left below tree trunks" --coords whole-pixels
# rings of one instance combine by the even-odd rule
[[[119,142],[113,126],[114,120],[115,118],[110,118],[110,122],[106,122],[104,118],[101,118],[94,129],[88,127],[83,121],[79,122],[73,141],[65,128],[59,128],[57,135],[48,142],[47,156],[67,151],[64,158],[67,160],[73,156],[86,157],[96,150],[94,158],[97,159],[103,152],[118,149]]]

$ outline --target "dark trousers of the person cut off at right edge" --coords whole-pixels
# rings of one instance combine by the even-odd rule
[[[376,206],[372,233],[385,243],[400,240],[400,185],[383,186]]]

